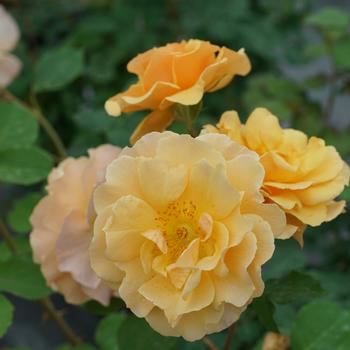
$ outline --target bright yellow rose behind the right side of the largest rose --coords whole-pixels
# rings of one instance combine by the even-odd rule
[[[245,125],[236,112],[225,112],[216,127],[204,127],[208,132],[226,134],[260,155],[264,195],[288,214],[301,244],[305,225],[318,226],[343,212],[345,201],[334,199],[349,184],[349,167],[322,139],[282,129],[264,108],[255,109]]]

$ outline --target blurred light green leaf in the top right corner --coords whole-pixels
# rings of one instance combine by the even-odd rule
[[[347,12],[336,7],[324,7],[306,18],[307,24],[324,30],[345,30],[349,21]]]

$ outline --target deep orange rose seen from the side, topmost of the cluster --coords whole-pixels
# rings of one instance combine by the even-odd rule
[[[244,50],[232,51],[207,41],[189,40],[153,48],[132,59],[127,69],[138,77],[130,88],[109,98],[108,114],[149,109],[152,112],[131,137],[134,143],[151,131],[163,131],[174,119],[174,103],[196,105],[204,92],[226,86],[235,75],[246,75],[250,62]]]

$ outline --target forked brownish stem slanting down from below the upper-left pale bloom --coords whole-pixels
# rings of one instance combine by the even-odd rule
[[[31,114],[33,114],[33,116],[35,117],[37,122],[41,125],[41,127],[45,130],[46,134],[51,139],[54,147],[56,148],[56,152],[57,152],[59,159],[63,160],[64,158],[66,158],[67,155],[66,155],[66,151],[65,151],[63,142],[62,142],[61,138],[59,137],[59,135],[57,134],[56,130],[50,124],[50,122],[44,117],[44,115],[41,111],[41,108],[38,104],[38,100],[34,94],[31,95],[32,103],[34,105],[33,107],[28,106],[27,104],[25,104],[23,101],[21,101],[16,96],[12,95],[7,90],[2,90],[1,94],[5,99],[10,100],[10,101],[16,101],[22,107],[24,107],[25,109],[30,111]]]

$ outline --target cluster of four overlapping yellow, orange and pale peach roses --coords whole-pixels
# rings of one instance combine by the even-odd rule
[[[101,146],[52,172],[31,219],[34,259],[67,301],[116,295],[159,333],[193,341],[230,326],[263,293],[275,239],[302,244],[306,225],[344,211],[336,197],[349,167],[263,108],[245,124],[225,112],[198,137],[159,132],[174,105],[189,110],[246,75],[243,50],[182,41],[138,55],[128,70],[139,80],[107,112],[151,113],[132,147]]]

